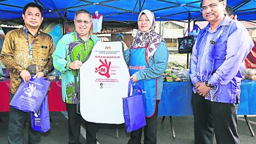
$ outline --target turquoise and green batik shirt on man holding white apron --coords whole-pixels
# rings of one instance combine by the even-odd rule
[[[64,102],[76,104],[79,100],[79,70],[70,69],[70,63],[75,60],[83,62],[98,40],[95,35],[89,35],[87,41],[83,41],[76,32],[72,32],[58,41],[53,53],[53,65],[61,73]]]

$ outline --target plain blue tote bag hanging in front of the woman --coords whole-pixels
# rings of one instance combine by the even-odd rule
[[[132,80],[129,81],[128,97],[123,98],[123,117],[125,118],[126,131],[139,130],[146,125],[142,90],[136,83],[136,90],[131,96]]]

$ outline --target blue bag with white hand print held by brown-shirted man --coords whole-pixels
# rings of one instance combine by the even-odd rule
[[[22,82],[10,105],[20,111],[37,112],[50,86],[50,82],[45,79],[32,78],[28,83]]]

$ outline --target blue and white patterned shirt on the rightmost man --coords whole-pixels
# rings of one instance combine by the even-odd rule
[[[194,45],[190,77],[193,85],[208,81],[210,101],[239,103],[244,59],[253,48],[247,29],[238,21],[223,18],[215,31],[208,24],[200,31]],[[193,88],[196,93],[196,88]]]

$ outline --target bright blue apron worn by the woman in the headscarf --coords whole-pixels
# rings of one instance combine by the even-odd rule
[[[140,69],[149,67],[148,62],[146,62],[147,48],[148,46],[131,48],[131,58],[129,63],[130,75],[140,71]],[[146,117],[152,117],[156,111],[157,81],[157,79],[137,81],[143,90],[144,111]]]

